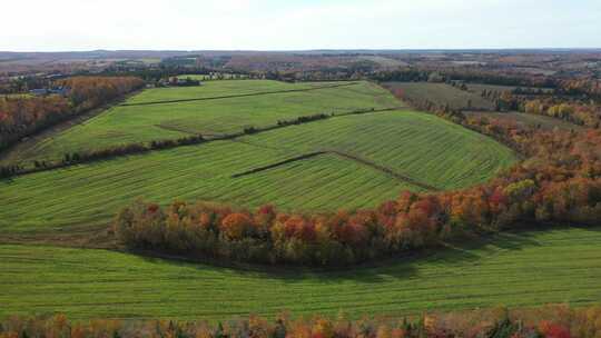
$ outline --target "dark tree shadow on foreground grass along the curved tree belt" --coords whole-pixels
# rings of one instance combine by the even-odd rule
[[[195,267],[199,270],[223,269],[228,274],[238,277],[269,278],[287,284],[306,282],[313,280],[323,285],[335,285],[345,281],[359,284],[378,284],[391,279],[406,279],[416,277],[420,267],[428,264],[457,266],[466,268],[481,265],[492,257],[503,255],[506,251],[523,250],[533,247],[541,247],[545,243],[541,241],[542,233],[554,230],[568,230],[577,228],[587,231],[601,232],[601,227],[550,227],[532,228],[524,227],[523,230],[512,232],[500,232],[482,237],[472,237],[452,243],[442,243],[439,247],[426,250],[405,252],[394,257],[381,259],[376,262],[355,265],[349,267],[297,267],[297,266],[262,266],[249,264],[224,264],[218,260],[183,259],[177,256],[152,255],[144,256],[146,260],[158,262],[168,260],[170,264],[186,267]],[[142,254],[142,252],[139,252]],[[148,252],[145,252],[148,255]]]

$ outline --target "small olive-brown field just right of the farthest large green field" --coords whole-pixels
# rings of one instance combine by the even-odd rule
[[[446,83],[430,82],[387,82],[385,87],[393,90],[401,89],[413,100],[428,100],[439,106],[449,103],[452,109],[467,109],[471,101],[472,109],[493,109],[493,102],[482,98],[479,93],[464,91]]]

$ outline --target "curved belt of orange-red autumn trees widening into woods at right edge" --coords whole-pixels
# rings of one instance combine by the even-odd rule
[[[434,112],[494,137],[526,160],[479,187],[405,191],[372,210],[290,213],[265,206],[252,212],[180,201],[164,209],[137,201],[117,217],[116,233],[130,247],[180,255],[349,265],[465,233],[601,219],[601,130],[542,130],[440,108]]]

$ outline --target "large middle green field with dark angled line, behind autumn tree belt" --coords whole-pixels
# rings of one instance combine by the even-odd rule
[[[318,141],[319,140],[319,141]],[[0,233],[99,225],[137,197],[221,200],[285,209],[371,207],[418,190],[336,156],[322,156],[257,175],[231,175],[309,150],[344,150],[444,188],[473,185],[514,161],[481,135],[410,111],[334,118],[141,156],[0,181]]]

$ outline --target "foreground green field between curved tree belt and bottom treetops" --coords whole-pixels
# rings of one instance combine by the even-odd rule
[[[259,272],[124,254],[0,246],[0,317],[225,319],[321,312],[352,317],[427,309],[587,305],[601,299],[599,228],[502,235],[473,248],[348,271]]]

